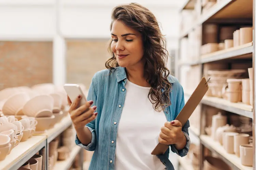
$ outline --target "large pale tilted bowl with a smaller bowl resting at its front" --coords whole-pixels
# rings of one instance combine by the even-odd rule
[[[40,95],[29,100],[23,107],[23,113],[31,117],[50,117],[53,115],[54,99],[49,95]]]

